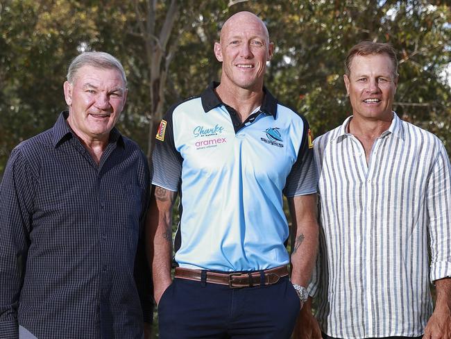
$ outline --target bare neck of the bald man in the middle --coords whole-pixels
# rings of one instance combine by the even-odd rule
[[[259,90],[247,90],[235,85],[226,88],[226,85],[223,85],[222,82],[216,87],[216,94],[224,104],[237,111],[241,122],[244,122],[255,108],[262,105],[264,97],[262,87]]]

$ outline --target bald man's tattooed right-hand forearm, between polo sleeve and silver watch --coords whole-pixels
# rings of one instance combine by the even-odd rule
[[[291,217],[291,281],[307,286],[312,276],[318,251],[316,196],[289,199]]]

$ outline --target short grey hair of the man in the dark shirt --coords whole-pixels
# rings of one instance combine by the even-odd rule
[[[67,70],[67,81],[69,83],[74,83],[78,69],[83,66],[92,66],[101,69],[117,69],[124,80],[124,85],[127,87],[127,78],[124,67],[122,67],[121,62],[114,58],[109,53],[105,52],[84,52],[76,56],[74,60],[71,61],[69,69]]]

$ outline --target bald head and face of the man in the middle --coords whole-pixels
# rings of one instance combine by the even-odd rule
[[[214,46],[216,58],[223,63],[221,85],[246,90],[262,90],[266,61],[273,53],[264,24],[250,13],[229,19],[221,31],[221,43]]]

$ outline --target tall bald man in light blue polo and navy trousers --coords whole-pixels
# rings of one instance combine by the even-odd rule
[[[173,106],[156,135],[148,247],[160,338],[289,338],[318,242],[309,126],[263,86],[273,43],[261,19],[230,17],[214,53],[221,83]]]

